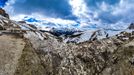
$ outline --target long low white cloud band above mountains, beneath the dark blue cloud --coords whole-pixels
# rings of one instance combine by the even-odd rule
[[[65,20],[61,18],[52,18],[47,17],[38,13],[33,13],[32,15],[24,15],[19,14],[16,16],[11,17],[12,20],[15,21],[21,21],[21,20],[28,20],[30,18],[36,19],[38,22],[27,22],[29,24],[36,25],[41,30],[49,30],[51,28],[69,28],[69,29],[77,29],[78,27],[75,27],[73,25],[77,24],[73,20]],[[54,24],[54,25],[52,25]]]

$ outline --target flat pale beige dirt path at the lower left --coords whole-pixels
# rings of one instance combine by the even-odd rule
[[[25,42],[12,35],[0,36],[0,75],[13,75]]]

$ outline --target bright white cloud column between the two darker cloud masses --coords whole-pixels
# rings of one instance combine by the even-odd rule
[[[69,0],[69,4],[72,7],[72,13],[78,17],[80,22],[80,27],[89,26],[91,24],[100,24],[98,18],[98,13],[89,10],[85,3],[85,0]]]

